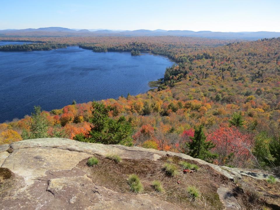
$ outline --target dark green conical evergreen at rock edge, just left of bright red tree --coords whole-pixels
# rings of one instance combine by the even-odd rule
[[[213,159],[215,159],[217,155],[211,153],[210,150],[215,147],[215,145],[211,141],[206,141],[203,129],[203,125],[199,125],[195,128],[195,134],[191,137],[192,141],[187,143],[189,149],[188,155],[207,162],[213,162]]]

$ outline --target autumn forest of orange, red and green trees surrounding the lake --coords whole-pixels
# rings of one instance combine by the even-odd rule
[[[168,56],[177,64],[166,69],[164,81],[157,89],[143,94],[82,104],[73,101],[51,111],[41,111],[35,106],[30,116],[0,124],[1,144],[64,137],[169,150],[214,164],[279,173],[280,38],[232,41],[162,36],[24,40],[44,41],[46,48],[53,44],[78,45],[95,52],[150,51]],[[32,45],[35,49],[41,44]]]

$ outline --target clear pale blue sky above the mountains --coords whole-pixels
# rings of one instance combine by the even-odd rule
[[[0,29],[279,31],[280,0],[1,0]]]

